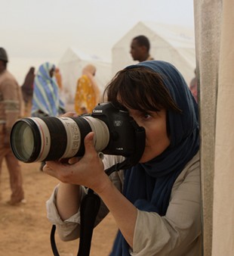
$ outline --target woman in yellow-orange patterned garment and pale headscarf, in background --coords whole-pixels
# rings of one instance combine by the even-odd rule
[[[79,115],[90,114],[100,101],[100,89],[94,79],[96,67],[86,65],[77,81],[75,92],[75,112]]]

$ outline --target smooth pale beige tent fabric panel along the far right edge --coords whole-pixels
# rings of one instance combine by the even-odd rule
[[[212,255],[234,253],[234,8],[223,0],[214,162]]]

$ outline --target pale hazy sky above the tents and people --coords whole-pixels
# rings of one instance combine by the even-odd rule
[[[139,21],[193,27],[193,0],[0,0],[0,46],[19,83],[29,67],[55,64],[69,47],[111,58]]]

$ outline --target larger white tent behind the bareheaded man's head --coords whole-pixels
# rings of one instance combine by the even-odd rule
[[[191,28],[153,22],[139,22],[112,48],[112,74],[137,63],[130,54],[131,40],[135,36],[147,36],[150,41],[150,55],[155,60],[174,64],[187,83],[195,76],[195,36]]]

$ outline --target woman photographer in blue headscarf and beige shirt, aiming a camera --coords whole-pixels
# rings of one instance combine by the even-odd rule
[[[189,87],[171,64],[145,61],[117,73],[106,93],[146,130],[139,164],[106,176],[119,157],[101,161],[89,133],[79,161],[48,161],[44,168],[61,181],[48,218],[62,239],[78,237],[86,186],[103,201],[98,217],[110,211],[119,227],[110,255],[202,255],[198,108]]]

